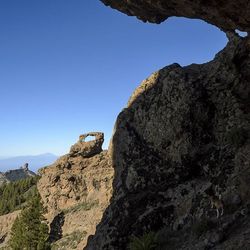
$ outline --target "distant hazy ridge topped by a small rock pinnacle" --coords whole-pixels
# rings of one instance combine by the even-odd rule
[[[5,173],[0,172],[0,185],[6,182],[18,181],[31,176],[36,176],[36,174],[29,170],[28,163],[25,163],[20,169],[9,170]]]

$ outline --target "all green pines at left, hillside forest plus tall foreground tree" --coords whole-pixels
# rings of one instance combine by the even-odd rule
[[[49,250],[49,229],[36,184],[39,176],[10,182],[0,187],[0,215],[22,209],[11,229],[9,248]],[[9,249],[7,248],[7,249]]]

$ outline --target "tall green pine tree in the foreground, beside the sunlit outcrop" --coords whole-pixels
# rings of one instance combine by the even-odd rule
[[[35,189],[35,195],[27,207],[15,220],[11,229],[10,247],[13,250],[49,250],[47,242],[49,228],[44,221],[41,197]]]

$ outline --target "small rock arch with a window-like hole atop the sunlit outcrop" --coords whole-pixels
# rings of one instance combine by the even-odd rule
[[[84,140],[88,136],[95,136],[95,139],[89,142]],[[71,156],[81,155],[82,157],[91,157],[102,152],[102,144],[104,142],[104,134],[101,132],[90,132],[79,136],[79,141],[74,144],[69,154]]]

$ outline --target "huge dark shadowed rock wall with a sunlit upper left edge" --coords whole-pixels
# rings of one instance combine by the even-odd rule
[[[119,114],[109,149],[113,197],[85,249],[127,249],[129,236],[162,228],[169,242],[173,232],[178,239],[162,249],[250,244],[244,230],[250,221],[250,41],[229,37],[209,63],[173,64],[154,73]],[[197,221],[218,222],[211,193],[222,197],[225,215],[210,234],[201,230],[192,238]],[[239,227],[234,236],[233,226]],[[238,242],[239,232],[246,235]]]

